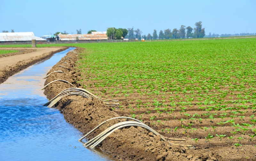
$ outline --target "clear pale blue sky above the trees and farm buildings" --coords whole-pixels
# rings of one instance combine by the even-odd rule
[[[256,33],[256,0],[1,0],[0,32],[34,32],[36,36],[76,29],[107,27],[156,29],[195,27],[205,34]]]

